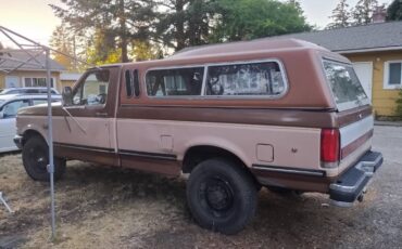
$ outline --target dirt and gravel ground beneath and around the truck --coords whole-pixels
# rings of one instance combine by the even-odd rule
[[[365,199],[328,206],[321,194],[277,195],[263,189],[256,218],[236,236],[197,226],[185,182],[70,162],[56,183],[59,236],[49,243],[47,184],[28,179],[21,156],[0,156],[0,189],[16,210],[0,206],[0,248],[402,248],[402,128],[376,127],[374,149],[385,162]]]

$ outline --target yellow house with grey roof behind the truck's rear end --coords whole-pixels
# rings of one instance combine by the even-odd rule
[[[379,21],[377,21],[379,22]],[[402,22],[285,35],[338,52],[354,65],[377,116],[393,116],[402,88]]]

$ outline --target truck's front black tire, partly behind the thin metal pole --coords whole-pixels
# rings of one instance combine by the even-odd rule
[[[26,173],[35,181],[49,182],[50,174],[47,170],[49,165],[49,148],[46,141],[38,136],[32,136],[23,147],[23,165]],[[65,171],[65,159],[54,158],[54,180],[62,178]]]

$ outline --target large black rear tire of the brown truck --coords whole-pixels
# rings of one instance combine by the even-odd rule
[[[202,227],[236,234],[254,217],[255,184],[241,166],[221,158],[208,159],[190,174],[187,201]]]

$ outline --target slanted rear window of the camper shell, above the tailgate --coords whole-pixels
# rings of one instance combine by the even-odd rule
[[[352,65],[324,61],[324,69],[339,110],[369,104]]]

